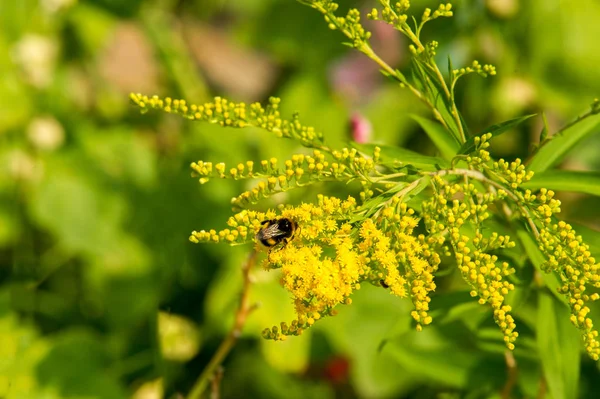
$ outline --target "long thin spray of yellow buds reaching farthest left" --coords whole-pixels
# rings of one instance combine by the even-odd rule
[[[274,133],[277,137],[297,139],[307,147],[319,147],[323,142],[323,135],[311,126],[302,125],[298,115],[294,115],[292,120],[282,119],[279,112],[280,99],[277,97],[271,97],[267,107],[259,103],[247,107],[243,102],[234,103],[222,97],[215,97],[212,102],[202,105],[188,104],[185,100],[170,97],[149,97],[139,93],[130,94],[130,98],[143,113],[157,109],[220,126],[258,127]]]

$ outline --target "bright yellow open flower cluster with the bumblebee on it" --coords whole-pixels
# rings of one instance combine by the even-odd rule
[[[270,250],[263,263],[268,270],[281,270],[297,319],[265,329],[265,338],[301,334],[321,317],[335,314],[337,305],[351,303],[351,294],[363,282],[411,298],[415,307],[411,315],[420,330],[432,321],[429,295],[436,288],[433,273],[440,263],[433,246],[439,239],[414,236],[419,220],[398,198],[377,216],[352,224],[356,210],[353,197],[319,195],[316,204],[283,206],[279,212],[243,210],[228,220],[229,228],[194,231],[190,240],[242,244],[254,239],[264,220],[286,218],[298,224],[294,238]]]

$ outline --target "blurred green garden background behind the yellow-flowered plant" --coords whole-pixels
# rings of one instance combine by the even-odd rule
[[[412,3],[418,16],[437,7]],[[454,7],[454,18],[425,31],[440,42],[440,65],[451,54],[455,67],[477,58],[498,70],[459,84],[472,132],[542,111],[556,129],[599,95],[598,1]],[[407,68],[403,38],[366,25],[382,58]],[[411,118],[426,110],[341,41],[317,12],[291,0],[0,2],[1,398],[179,397],[233,323],[250,246],[198,246],[188,236],[223,227],[246,182],[200,186],[189,164],[287,158],[300,149],[258,130],[142,116],[129,92],[196,103],[276,95],[284,114],[299,111],[333,146],[351,138],[350,120],[361,115],[371,141],[433,154]],[[525,157],[541,128],[541,118],[531,119],[496,139],[492,152]],[[598,170],[599,149],[596,132],[562,167]],[[319,190],[347,195],[353,187],[278,201],[313,201]],[[600,228],[598,198],[561,200],[565,219]],[[439,303],[456,302],[458,311],[417,334],[409,301],[365,287],[339,316],[273,343],[260,331],[291,320],[291,304],[275,273],[253,274],[252,301],[262,306],[224,364],[224,398],[500,397],[502,343],[490,312],[468,298],[447,294]],[[518,347],[534,345],[527,331],[535,312],[517,317]],[[481,344],[474,331],[492,337]],[[544,397],[535,351],[519,351],[512,396]],[[594,397],[598,365],[583,356],[580,367],[578,395]]]

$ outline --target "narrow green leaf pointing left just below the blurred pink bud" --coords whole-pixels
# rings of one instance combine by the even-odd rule
[[[429,157],[400,147],[382,144],[358,144],[351,143],[352,147],[362,153],[373,154],[375,147],[381,149],[381,162],[390,168],[400,168],[406,165],[414,165],[417,169],[425,171],[436,171],[440,168],[450,167],[450,162],[443,158]]]

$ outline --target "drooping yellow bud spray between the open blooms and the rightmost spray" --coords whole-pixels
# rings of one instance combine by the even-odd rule
[[[483,235],[481,223],[489,217],[488,205],[498,199],[498,194],[480,193],[473,184],[451,184],[439,176],[433,179],[435,195],[423,204],[426,226],[432,235],[447,237],[456,258],[456,264],[465,282],[471,287],[471,296],[479,297],[480,304],[490,304],[494,320],[504,334],[509,349],[514,349],[518,333],[506,305],[506,295],[514,285],[505,277],[514,273],[508,263],[498,262],[489,252],[499,248],[512,248],[515,243],[508,236],[492,233]],[[461,199],[459,199],[461,198]],[[463,234],[465,225],[475,228],[475,235]]]

